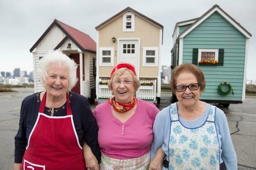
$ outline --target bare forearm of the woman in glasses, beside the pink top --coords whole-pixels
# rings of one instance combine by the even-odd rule
[[[150,161],[149,170],[161,170],[163,168],[163,160],[166,157],[162,147],[156,151],[155,157]]]

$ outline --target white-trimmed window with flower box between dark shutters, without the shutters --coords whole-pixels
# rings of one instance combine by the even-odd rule
[[[218,63],[219,49],[198,49],[198,63]]]

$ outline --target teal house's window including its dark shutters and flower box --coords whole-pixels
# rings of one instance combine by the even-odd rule
[[[223,66],[224,49],[193,49],[192,63],[199,66]]]

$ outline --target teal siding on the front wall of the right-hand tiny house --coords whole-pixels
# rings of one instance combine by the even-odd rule
[[[223,66],[199,66],[206,78],[201,99],[242,101],[246,37],[215,12],[184,37],[183,63],[192,63],[192,51],[198,48],[224,49]],[[222,81],[231,84],[234,95],[218,94]]]

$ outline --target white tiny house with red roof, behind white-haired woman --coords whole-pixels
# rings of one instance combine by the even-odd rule
[[[39,82],[38,62],[45,54],[53,50],[61,51],[78,65],[78,82],[71,91],[94,100],[96,43],[88,34],[56,19],[30,49],[33,54],[35,92],[44,90],[43,85]]]

